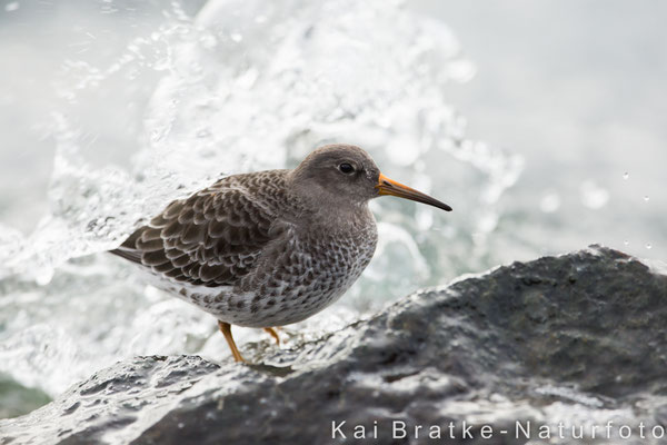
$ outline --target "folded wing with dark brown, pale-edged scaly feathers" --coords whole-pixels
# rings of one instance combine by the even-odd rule
[[[270,202],[225,180],[171,202],[112,254],[172,280],[232,286],[280,234]]]

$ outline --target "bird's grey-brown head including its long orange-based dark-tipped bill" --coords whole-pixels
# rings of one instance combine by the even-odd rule
[[[292,171],[292,180],[297,190],[320,206],[359,206],[390,195],[451,210],[445,202],[387,178],[372,158],[355,146],[318,148]]]

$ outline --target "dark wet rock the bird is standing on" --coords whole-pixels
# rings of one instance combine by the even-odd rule
[[[621,425],[633,428],[623,443],[666,441],[653,433],[667,422],[667,277],[606,248],[461,278],[318,340],[245,355],[257,364],[118,363],[1,421],[0,443],[351,443],[359,425],[382,444],[438,443],[438,428],[448,444],[528,443],[517,421],[530,422],[531,444],[548,442],[542,425],[558,444],[618,443]],[[575,438],[591,424],[597,442]]]

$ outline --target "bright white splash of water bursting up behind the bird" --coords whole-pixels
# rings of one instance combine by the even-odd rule
[[[227,355],[209,316],[101,253],[220,175],[293,167],[331,141],[360,145],[388,176],[455,212],[372,202],[378,255],[302,335],[495,265],[487,237],[522,161],[465,139],[445,86],[472,72],[441,23],[379,0],[220,0],[195,19],[172,3],[111,63],[68,60],[56,81],[49,212],[28,237],[0,230],[0,286],[11,295],[0,299],[0,372],[57,394],[137,354]],[[129,169],[97,166],[104,148],[86,127],[87,107],[118,82],[156,86]],[[239,344],[253,335],[241,330]]]

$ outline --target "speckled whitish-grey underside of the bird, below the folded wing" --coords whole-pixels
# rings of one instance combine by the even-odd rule
[[[183,288],[178,296],[232,325],[289,325],[340,298],[368,266],[376,243],[375,226],[357,238],[292,237],[242,286],[208,291]]]

